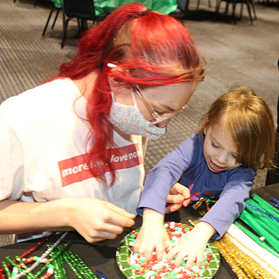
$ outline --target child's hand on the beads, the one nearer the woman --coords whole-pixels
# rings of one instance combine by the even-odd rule
[[[169,236],[163,225],[162,214],[152,209],[144,209],[142,228],[134,242],[133,250],[149,260],[152,259],[152,252],[156,248],[157,259],[163,259],[163,252],[169,247]]]

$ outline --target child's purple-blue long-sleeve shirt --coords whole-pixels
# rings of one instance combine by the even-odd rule
[[[172,186],[178,181],[184,186],[194,184],[191,193],[201,193],[197,197],[218,199],[202,221],[216,229],[213,239],[220,239],[244,210],[256,172],[244,167],[218,174],[211,172],[204,159],[203,144],[204,135],[199,137],[199,133],[193,133],[151,169],[137,213],[142,215],[143,209],[149,208],[165,215],[166,199]]]

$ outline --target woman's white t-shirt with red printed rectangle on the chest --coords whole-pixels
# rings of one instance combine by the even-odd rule
[[[144,180],[145,139],[114,132],[116,182],[92,177],[84,160],[89,126],[86,100],[69,80],[54,80],[9,98],[0,106],[0,200],[45,202],[95,197],[136,213]],[[78,115],[78,116],[77,116]],[[115,149],[114,149],[115,150]],[[110,182],[110,175],[107,175]]]

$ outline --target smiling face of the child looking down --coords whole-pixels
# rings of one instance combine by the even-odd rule
[[[204,129],[204,134],[204,158],[211,172],[225,172],[241,166],[236,162],[236,148],[225,135],[223,126],[209,126]]]

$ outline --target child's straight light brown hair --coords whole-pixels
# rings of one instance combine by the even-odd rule
[[[202,117],[204,128],[222,125],[234,142],[236,161],[243,167],[270,169],[275,153],[276,130],[268,105],[246,86],[234,86],[220,96]],[[201,122],[202,123],[202,122]]]

